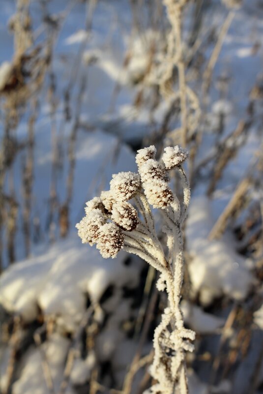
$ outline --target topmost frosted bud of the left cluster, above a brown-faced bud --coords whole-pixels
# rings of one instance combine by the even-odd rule
[[[134,172],[119,172],[113,175],[110,186],[116,200],[125,201],[136,195],[141,187],[141,179]]]

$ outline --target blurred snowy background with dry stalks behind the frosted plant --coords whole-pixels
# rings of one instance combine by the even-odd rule
[[[102,259],[75,224],[137,149],[183,143],[166,7],[0,5],[0,393],[141,394],[166,299],[146,263]],[[262,42],[261,0],[183,8],[190,394],[263,393]]]

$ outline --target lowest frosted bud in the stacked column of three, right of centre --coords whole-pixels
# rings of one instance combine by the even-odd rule
[[[165,208],[174,200],[173,192],[167,182],[153,179],[144,183],[145,195],[153,208]]]

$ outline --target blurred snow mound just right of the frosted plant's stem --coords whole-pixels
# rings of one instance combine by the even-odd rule
[[[231,239],[207,239],[213,225],[209,200],[192,198],[187,220],[187,246],[192,258],[189,273],[195,294],[204,305],[222,295],[235,300],[246,297],[253,283],[250,262],[238,255]]]

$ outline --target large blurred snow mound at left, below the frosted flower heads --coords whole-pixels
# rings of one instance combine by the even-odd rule
[[[0,277],[0,303],[30,322],[40,307],[67,331],[75,331],[86,310],[86,301],[99,302],[114,285],[133,286],[138,269],[125,266],[125,253],[115,260],[103,259],[95,248],[82,245],[75,236],[60,241],[46,253],[7,269]]]

